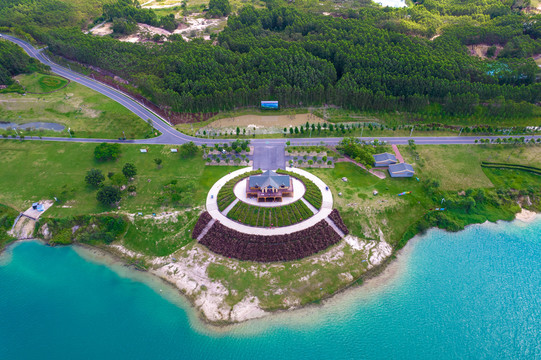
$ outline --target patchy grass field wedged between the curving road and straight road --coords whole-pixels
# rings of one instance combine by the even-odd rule
[[[19,75],[16,78],[27,88],[39,91],[52,89],[54,84],[60,86],[65,81],[43,74]],[[57,83],[58,79],[62,81]],[[124,134],[127,138],[144,138],[152,135],[149,125],[131,111],[74,82],[50,94],[0,94],[0,121],[17,124],[52,122],[66,128],[62,132],[24,131],[25,136],[69,136],[68,128],[74,132],[73,136],[86,138],[113,139]],[[6,131],[0,130],[1,133]]]

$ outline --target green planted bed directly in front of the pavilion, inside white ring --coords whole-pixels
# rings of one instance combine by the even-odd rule
[[[314,215],[302,200],[277,207],[261,207],[239,201],[227,217],[242,224],[258,227],[282,227],[299,223]]]

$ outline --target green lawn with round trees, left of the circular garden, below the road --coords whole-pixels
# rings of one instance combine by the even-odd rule
[[[21,211],[34,201],[56,196],[62,203],[49,209],[49,216],[110,211],[110,208],[99,205],[96,190],[85,184],[86,172],[97,168],[107,176],[109,172],[120,173],[123,165],[130,162],[138,170],[133,182],[137,195],[129,196],[124,192],[120,211],[157,213],[185,208],[167,201],[173,180],[190,189],[180,194],[183,203],[190,207],[202,206],[212,184],[238,169],[204,166],[198,155],[181,159],[178,154],[170,152],[170,146],[147,146],[148,153],[142,154],[139,146],[121,145],[122,155],[118,161],[99,163],[93,156],[95,147],[96,144],[0,140],[0,203]],[[160,169],[154,163],[155,158],[163,160]]]

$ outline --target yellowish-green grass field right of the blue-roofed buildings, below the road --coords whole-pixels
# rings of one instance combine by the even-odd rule
[[[408,146],[399,149],[418,177],[436,179],[444,190],[493,187],[482,161],[541,166],[539,145],[417,145],[418,158]]]

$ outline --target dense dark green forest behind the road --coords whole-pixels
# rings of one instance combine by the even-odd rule
[[[214,43],[178,35],[164,44],[123,43],[54,23],[20,26],[13,16],[2,19],[1,8],[0,26],[19,26],[53,53],[118,74],[178,112],[273,99],[282,106],[529,117],[541,100],[539,69],[528,58],[541,53],[541,17],[524,13],[528,4],[426,0],[333,16],[266,4],[230,15]],[[100,19],[162,21],[131,0],[104,5]],[[487,59],[470,56],[467,45],[481,43],[503,49]]]

